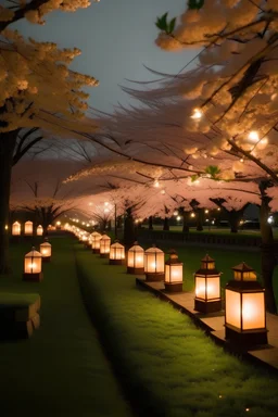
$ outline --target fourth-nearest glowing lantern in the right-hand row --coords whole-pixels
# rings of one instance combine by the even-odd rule
[[[144,252],[144,274],[147,281],[164,280],[164,252],[155,245]]]

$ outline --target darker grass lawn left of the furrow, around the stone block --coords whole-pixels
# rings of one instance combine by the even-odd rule
[[[0,291],[41,295],[41,327],[29,340],[0,343],[2,416],[131,416],[84,307],[73,239],[51,238],[43,281],[22,281],[30,243],[12,247],[13,275]],[[38,248],[38,247],[37,247]]]

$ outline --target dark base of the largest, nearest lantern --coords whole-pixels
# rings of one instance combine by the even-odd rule
[[[267,344],[267,329],[239,331],[225,325],[225,339],[237,350],[247,351]]]

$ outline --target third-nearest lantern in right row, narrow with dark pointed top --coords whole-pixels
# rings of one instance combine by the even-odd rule
[[[182,291],[182,262],[179,262],[176,251],[170,251],[165,262],[165,290],[168,292]]]

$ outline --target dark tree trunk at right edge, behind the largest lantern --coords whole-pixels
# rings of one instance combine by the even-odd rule
[[[265,287],[265,302],[266,309],[269,313],[277,314],[276,301],[273,287],[273,275],[276,266],[274,236],[271,226],[267,223],[269,215],[269,199],[262,197],[262,205],[260,210],[260,223],[261,223],[261,261],[262,261],[262,276]]]

